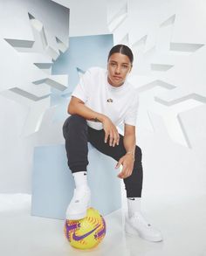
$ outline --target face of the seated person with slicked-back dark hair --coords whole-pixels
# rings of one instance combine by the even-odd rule
[[[121,86],[131,69],[132,64],[127,55],[119,52],[113,53],[107,63],[108,82],[112,86]]]

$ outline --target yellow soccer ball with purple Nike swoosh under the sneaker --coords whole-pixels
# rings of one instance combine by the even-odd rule
[[[100,212],[87,209],[86,218],[65,220],[65,237],[70,245],[78,249],[91,249],[100,244],[106,235],[106,222]]]

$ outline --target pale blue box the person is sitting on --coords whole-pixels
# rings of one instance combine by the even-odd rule
[[[90,143],[88,183],[92,207],[105,216],[121,207],[120,178],[114,169],[116,161],[105,156]],[[65,145],[36,147],[32,173],[31,215],[65,219],[72,199],[74,181],[67,166]]]

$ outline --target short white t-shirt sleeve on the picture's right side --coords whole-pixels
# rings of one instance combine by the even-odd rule
[[[127,114],[124,119],[125,124],[133,125],[133,126],[136,125],[138,107],[139,107],[139,96],[138,96],[138,93],[135,92],[134,100],[132,100],[130,107],[128,107]]]

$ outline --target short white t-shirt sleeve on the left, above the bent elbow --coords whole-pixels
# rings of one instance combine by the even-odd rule
[[[89,97],[89,86],[91,85],[91,72],[87,70],[79,80],[78,85],[74,88],[72,96],[86,102]]]

